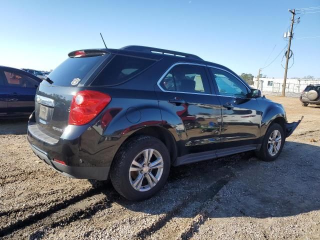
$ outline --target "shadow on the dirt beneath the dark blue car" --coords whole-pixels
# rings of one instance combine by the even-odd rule
[[[15,119],[0,119],[0,135],[26,134],[28,117]]]

